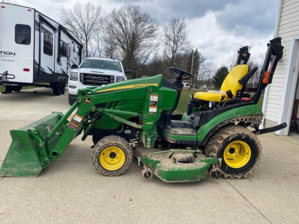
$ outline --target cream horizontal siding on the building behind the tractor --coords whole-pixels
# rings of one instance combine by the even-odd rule
[[[277,36],[283,38],[284,57],[278,63],[272,84],[269,87],[264,127],[277,125],[279,120],[291,40],[294,36],[299,35],[299,0],[283,0],[278,24]]]

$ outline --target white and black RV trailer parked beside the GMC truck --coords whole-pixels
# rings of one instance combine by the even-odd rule
[[[64,93],[82,44],[69,30],[34,8],[0,2],[0,85],[4,93],[23,86]],[[45,84],[49,85],[45,85]]]

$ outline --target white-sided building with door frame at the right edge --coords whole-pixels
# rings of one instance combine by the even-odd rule
[[[277,134],[288,135],[292,116],[299,117],[299,0],[280,0],[274,36],[283,38],[284,56],[265,90],[262,126],[287,122],[288,127]]]

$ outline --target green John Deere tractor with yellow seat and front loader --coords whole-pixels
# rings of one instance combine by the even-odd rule
[[[262,155],[256,135],[286,127],[283,123],[259,129],[263,113],[257,106],[263,89],[272,82],[283,48],[280,37],[268,43],[253,97],[245,93],[246,83],[257,68],[249,69],[250,54],[243,47],[221,91],[195,93],[185,114],[173,111],[181,81],[192,75],[173,67],[173,82],[156,75],[79,90],[66,114],[53,112],[10,131],[12,143],[0,176],[36,177],[62,156],[75,137],[85,140],[92,135],[93,164],[104,175],[123,174],[135,156],[147,179],[155,175],[165,182],[191,182],[208,175],[246,177]]]

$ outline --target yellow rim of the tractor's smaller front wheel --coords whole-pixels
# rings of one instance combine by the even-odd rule
[[[125,164],[126,155],[121,148],[109,146],[101,152],[99,160],[104,169],[114,171]]]

